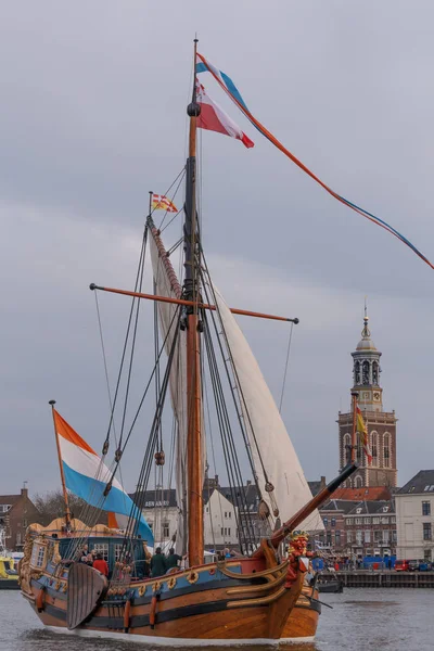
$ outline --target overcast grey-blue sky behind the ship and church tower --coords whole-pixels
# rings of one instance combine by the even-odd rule
[[[108,403],[88,285],[133,284],[148,191],[164,192],[184,163],[194,33],[295,155],[434,259],[433,18],[430,1],[3,3],[0,493],[59,484],[50,398],[101,448]],[[337,470],[335,420],[368,295],[403,485],[434,465],[434,272],[203,82],[256,143],[203,135],[208,263],[231,305],[301,319],[283,416],[306,475]],[[129,303],[100,305],[113,383]],[[240,322],[279,398],[288,327]],[[137,458],[124,464],[128,489]]]

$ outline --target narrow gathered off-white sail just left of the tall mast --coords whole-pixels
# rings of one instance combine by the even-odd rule
[[[161,257],[154,234],[151,229],[150,250],[152,259],[152,269],[156,286],[156,293],[161,296],[170,296],[180,298],[181,289],[176,278],[171,264],[167,258]],[[179,329],[176,311],[179,306],[174,303],[158,303],[158,318],[163,341],[166,340],[165,348],[167,355],[170,353],[174,337],[177,334],[178,341],[174,361],[170,370],[170,397],[174,413],[177,420],[176,437],[176,463],[175,482],[178,506],[178,523],[176,550],[177,553],[183,553],[187,547],[187,342],[186,332]],[[175,318],[174,318],[175,317]],[[166,339],[167,336],[167,339]]]

